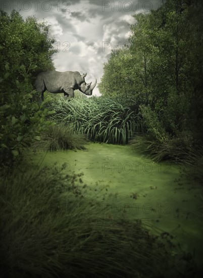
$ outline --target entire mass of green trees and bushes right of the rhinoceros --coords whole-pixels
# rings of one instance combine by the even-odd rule
[[[134,18],[130,48],[112,52],[99,90],[138,104],[146,137],[134,147],[157,161],[194,162],[203,142],[203,4],[167,0]]]

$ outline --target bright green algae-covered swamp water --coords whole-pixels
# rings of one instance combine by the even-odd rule
[[[154,163],[135,153],[130,146],[90,143],[86,150],[40,151],[32,163],[49,167],[56,163],[64,172],[84,173],[82,180],[100,196],[104,217],[122,215],[142,219],[153,233],[168,232],[176,246],[195,252],[202,261],[202,186],[180,173],[177,165]],[[99,188],[108,186],[108,192]],[[104,193],[107,193],[103,200]],[[85,196],[88,198],[88,195]],[[175,250],[170,250],[176,252]]]

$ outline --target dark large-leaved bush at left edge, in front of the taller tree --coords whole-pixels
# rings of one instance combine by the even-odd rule
[[[31,64],[29,70],[33,68],[35,65]],[[12,164],[16,158],[20,158],[24,148],[40,139],[42,130],[53,124],[47,120],[47,116],[55,111],[44,108],[48,97],[41,105],[32,102],[36,91],[32,90],[31,74],[24,65],[10,68],[6,63],[4,70],[0,79],[0,164]],[[19,81],[19,78],[23,81]],[[11,81],[15,81],[15,86]]]

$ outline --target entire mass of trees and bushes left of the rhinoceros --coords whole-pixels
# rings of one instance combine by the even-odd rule
[[[47,117],[54,111],[45,107],[50,97],[39,104],[32,82],[37,71],[54,68],[54,39],[48,38],[44,23],[37,23],[34,17],[23,20],[15,10],[11,15],[0,12],[0,26],[0,164],[12,164],[53,124]]]

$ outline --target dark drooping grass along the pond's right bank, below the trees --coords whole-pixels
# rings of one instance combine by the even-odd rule
[[[138,152],[146,154],[153,161],[170,160],[185,167],[184,172],[203,181],[203,149],[192,145],[184,138],[173,138],[160,142],[152,135],[136,136],[129,145]]]

